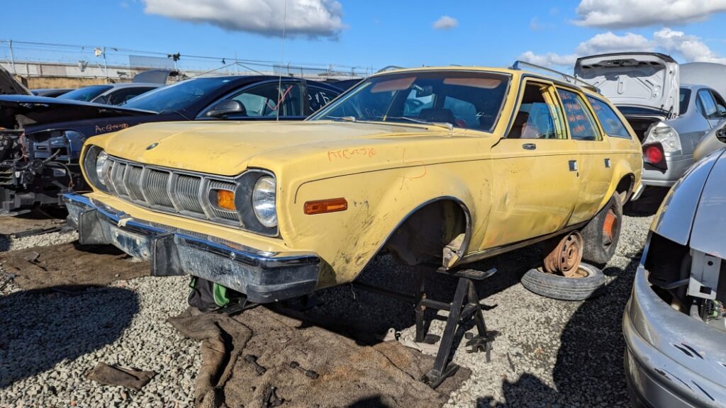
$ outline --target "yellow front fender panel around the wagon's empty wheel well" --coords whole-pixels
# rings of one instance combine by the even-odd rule
[[[484,175],[484,162],[477,163]],[[303,183],[287,201],[280,234],[291,247],[313,250],[329,266],[323,268],[321,287],[354,280],[401,223],[436,200],[453,200],[465,210],[464,243],[471,248],[476,236],[471,226],[486,227],[482,223],[487,217],[481,216],[478,203],[482,198],[488,202],[491,194],[488,179],[476,179],[473,167],[471,163],[413,166]],[[335,197],[346,198],[348,210],[303,213],[306,201]]]

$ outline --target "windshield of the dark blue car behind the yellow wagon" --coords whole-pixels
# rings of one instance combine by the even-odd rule
[[[224,77],[188,79],[129,99],[129,102],[126,102],[123,107],[151,110],[157,113],[165,110],[178,112],[229,81],[232,80]]]

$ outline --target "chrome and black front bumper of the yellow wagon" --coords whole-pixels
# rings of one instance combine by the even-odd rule
[[[81,244],[110,244],[151,262],[153,276],[189,274],[269,303],[312,293],[317,254],[269,253],[208,235],[131,219],[121,211],[78,194],[65,194],[68,221]]]

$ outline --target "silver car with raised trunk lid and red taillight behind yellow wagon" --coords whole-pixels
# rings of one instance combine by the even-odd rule
[[[726,102],[717,91],[680,83],[679,72],[671,57],[649,52],[592,55],[575,64],[575,76],[619,108],[644,146],[661,143],[666,166],[646,161],[646,186],[672,186],[693,164],[703,135],[726,118]]]

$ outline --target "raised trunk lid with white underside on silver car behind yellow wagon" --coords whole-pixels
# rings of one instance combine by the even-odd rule
[[[678,113],[678,62],[656,52],[619,52],[578,58],[575,76],[615,105]]]

